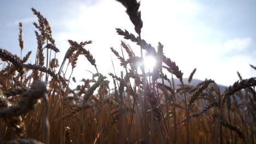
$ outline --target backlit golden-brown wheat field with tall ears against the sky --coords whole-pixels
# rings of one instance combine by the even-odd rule
[[[242,79],[237,71],[239,81],[220,92],[211,79],[191,85],[195,68],[185,84],[164,46],[155,48],[141,37],[140,4],[118,1],[136,32],[116,29],[122,49],[110,51],[123,67],[120,77],[120,71],[108,76],[98,71],[101,64],[86,49],[91,40],[68,40],[66,53],[60,51],[50,23],[34,8],[37,51],[34,63],[28,63],[32,52],[22,57],[19,23],[21,56],[0,48],[0,143],[256,143],[256,77]],[[137,44],[141,53],[128,43]],[[65,53],[63,60],[56,57],[59,52]],[[143,65],[148,55],[156,59],[150,72]],[[79,56],[95,67],[91,79],[73,77]],[[70,86],[77,81],[83,84]]]

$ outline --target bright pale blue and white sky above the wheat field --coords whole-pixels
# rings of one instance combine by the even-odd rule
[[[57,53],[60,61],[69,47],[68,39],[92,40],[85,49],[95,57],[100,73],[114,73],[111,57],[117,73],[124,71],[109,49],[113,47],[121,52],[120,40],[124,39],[115,28],[136,34],[121,3],[114,0],[11,0],[0,1],[0,5],[0,47],[3,49],[20,55],[18,34],[19,22],[22,22],[23,53],[32,51],[32,55],[36,55],[36,28],[32,22],[37,19],[31,11],[33,7],[49,21],[60,49]],[[243,79],[256,76],[255,70],[249,67],[249,64],[256,65],[255,5],[254,0],[141,0],[141,37],[154,47],[161,42],[165,56],[176,62],[184,78],[197,68],[195,79],[212,79],[229,86],[238,80],[236,71]],[[124,41],[140,56],[137,45]],[[80,56],[73,76],[78,80],[90,78],[86,70],[96,73]]]

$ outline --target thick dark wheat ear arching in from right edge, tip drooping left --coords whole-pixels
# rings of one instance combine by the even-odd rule
[[[256,86],[256,77],[251,77],[250,79],[237,81],[232,86],[229,86],[228,89],[226,89],[224,95],[232,95],[235,92],[240,91],[241,89],[253,86]]]

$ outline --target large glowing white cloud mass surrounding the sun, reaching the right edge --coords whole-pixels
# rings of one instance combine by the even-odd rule
[[[135,34],[125,8],[112,0],[99,1],[90,6],[81,3],[72,5],[74,7],[69,9],[69,14],[65,15],[66,20],[62,22],[63,31],[54,34],[59,47],[66,47],[61,50],[62,55],[65,55],[64,52],[68,49],[65,40],[92,40],[94,43],[85,47],[95,57],[100,73],[113,73],[110,55],[119,73],[123,69],[120,69],[120,62],[109,47],[113,46],[121,53],[120,40],[123,38],[115,33],[114,28],[127,29]],[[165,55],[179,65],[184,77],[188,77],[195,67],[195,78],[212,78],[223,85],[231,85],[237,80],[237,70],[245,78],[255,76],[248,66],[250,63],[256,63],[255,58],[238,53],[244,53],[252,46],[252,38],[222,39],[223,34],[228,33],[216,31],[197,21],[197,15],[202,9],[202,5],[194,1],[142,1],[142,38],[154,46],[161,41]],[[127,42],[139,55],[138,46]],[[78,80],[88,77],[86,69],[95,71],[84,57],[79,57],[73,75],[78,76]]]

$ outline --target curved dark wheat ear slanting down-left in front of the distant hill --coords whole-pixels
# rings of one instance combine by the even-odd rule
[[[191,95],[191,97],[190,97],[190,99],[189,99],[189,104],[188,104],[189,107],[194,103],[194,101],[197,99],[197,97],[203,92],[203,90],[204,90],[205,88],[208,87],[208,85],[209,85],[211,82],[214,82],[214,81],[212,81],[211,79],[210,79],[210,80],[203,81],[203,82],[201,83],[201,85],[196,88],[195,92]]]

